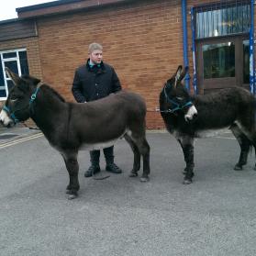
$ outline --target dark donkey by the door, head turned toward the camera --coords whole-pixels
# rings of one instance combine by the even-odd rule
[[[242,170],[250,148],[256,150],[254,96],[241,87],[191,96],[182,83],[187,70],[179,66],[160,94],[161,117],[184,152],[184,184],[191,184],[194,176],[194,139],[210,129],[231,129],[240,146],[239,161],[234,169]]]

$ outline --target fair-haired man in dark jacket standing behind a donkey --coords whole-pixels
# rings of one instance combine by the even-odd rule
[[[72,95],[79,103],[94,101],[120,91],[121,84],[114,68],[103,62],[103,47],[98,43],[89,45],[89,59],[74,73]],[[103,113],[104,115],[104,113]],[[122,173],[114,162],[114,146],[103,150],[106,159],[106,171]],[[91,166],[84,173],[91,177],[100,172],[100,150],[90,151]]]

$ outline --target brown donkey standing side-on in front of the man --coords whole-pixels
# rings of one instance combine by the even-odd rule
[[[18,76],[6,68],[15,86],[10,90],[6,106],[0,113],[5,126],[12,126],[29,117],[42,131],[50,145],[58,150],[70,177],[69,199],[78,195],[78,151],[109,147],[125,138],[133,153],[133,168],[129,176],[138,176],[143,158],[141,182],[150,174],[150,145],[146,139],[146,104],[134,93],[121,91],[94,102],[66,102],[49,85],[30,75]]]

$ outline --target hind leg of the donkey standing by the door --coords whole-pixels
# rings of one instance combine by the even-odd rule
[[[250,150],[250,139],[247,138],[247,136],[241,131],[241,129],[236,125],[233,124],[230,127],[232,133],[236,137],[236,139],[239,141],[240,146],[240,155],[239,155],[239,161],[235,165],[234,170],[240,171],[242,170],[242,166],[247,163],[248,158],[248,152]]]

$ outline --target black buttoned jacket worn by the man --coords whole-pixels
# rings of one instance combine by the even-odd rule
[[[100,99],[122,89],[114,68],[104,62],[80,66],[74,73],[72,95],[77,102]]]

